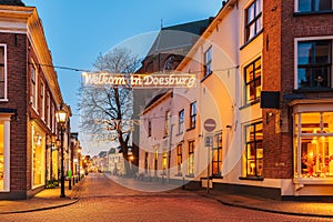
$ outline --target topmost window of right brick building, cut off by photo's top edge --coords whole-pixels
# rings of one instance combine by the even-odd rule
[[[317,12],[332,10],[332,0],[297,0],[299,12]]]

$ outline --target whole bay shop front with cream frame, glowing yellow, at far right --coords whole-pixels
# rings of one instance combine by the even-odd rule
[[[333,101],[293,105],[295,195],[333,195]]]

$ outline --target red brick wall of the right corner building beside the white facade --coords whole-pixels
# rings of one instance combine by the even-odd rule
[[[280,110],[263,109],[264,176],[287,179],[293,176],[293,122],[283,95],[294,89],[294,38],[332,36],[333,14],[295,14],[294,0],[263,1],[263,90],[281,92]],[[269,112],[274,115],[268,122]]]

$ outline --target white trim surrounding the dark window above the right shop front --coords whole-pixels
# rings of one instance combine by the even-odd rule
[[[299,42],[301,41],[315,41],[315,40],[332,40],[333,48],[333,36],[321,36],[321,37],[304,37],[294,39],[294,90],[299,89]],[[333,49],[331,50],[333,52]],[[331,52],[331,53],[332,53]],[[332,57],[332,54],[331,54]],[[331,58],[333,60],[333,58]],[[333,62],[331,62],[333,63]],[[331,88],[333,88],[333,64],[331,65]]]

